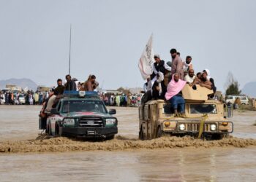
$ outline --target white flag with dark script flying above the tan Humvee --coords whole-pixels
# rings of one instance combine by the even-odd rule
[[[153,73],[154,52],[152,47],[153,35],[150,36],[148,44],[139,60],[140,74],[143,79],[147,79]]]

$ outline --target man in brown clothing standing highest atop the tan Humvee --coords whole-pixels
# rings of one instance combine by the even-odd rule
[[[171,49],[170,55],[172,57],[171,75],[173,76],[173,74],[179,74],[179,78],[184,79],[183,62],[181,58],[177,55],[177,50]]]

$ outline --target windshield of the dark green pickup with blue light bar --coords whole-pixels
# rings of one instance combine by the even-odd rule
[[[64,100],[62,113],[67,112],[97,112],[107,113],[101,100]]]

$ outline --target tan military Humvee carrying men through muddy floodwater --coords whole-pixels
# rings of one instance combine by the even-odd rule
[[[150,100],[139,107],[139,138],[152,139],[162,135],[192,135],[198,138],[221,139],[233,132],[233,122],[227,120],[225,105],[219,100],[208,100],[212,91],[187,84],[182,90],[186,101],[185,116],[175,117],[170,103]],[[227,107],[226,107],[227,108]]]

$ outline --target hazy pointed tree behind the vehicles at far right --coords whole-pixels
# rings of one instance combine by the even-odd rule
[[[229,72],[227,74],[227,82],[226,82],[226,95],[240,95],[241,90],[239,90],[239,84],[234,79],[233,74]]]

